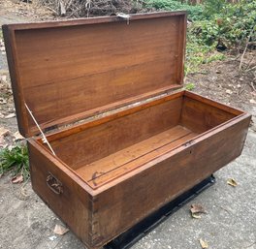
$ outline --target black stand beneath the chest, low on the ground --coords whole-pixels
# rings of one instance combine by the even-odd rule
[[[184,194],[177,197],[172,202],[169,202],[159,208],[154,213],[150,214],[144,220],[136,224],[134,227],[120,234],[111,242],[104,246],[105,249],[128,249],[140,240],[146,233],[152,231],[160,223],[165,221],[172,213],[176,212],[185,203],[191,201],[198,196],[201,192],[206,190],[215,182],[215,177],[210,175],[207,179],[203,180]]]

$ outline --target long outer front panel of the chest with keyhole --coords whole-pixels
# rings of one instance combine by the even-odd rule
[[[126,231],[238,157],[249,122],[243,115],[100,188],[93,205],[94,244]]]

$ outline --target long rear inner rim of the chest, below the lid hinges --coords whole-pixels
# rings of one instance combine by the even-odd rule
[[[176,88],[179,88],[179,87],[176,86]],[[163,93],[165,93],[165,92],[166,91],[164,91]],[[121,111],[118,111],[118,112],[114,112],[114,113],[111,113],[111,114],[106,115],[104,117],[98,117],[94,120],[90,120],[90,121],[87,121],[87,122],[85,121],[85,122],[82,122],[82,123],[79,123],[79,124],[75,124],[72,127],[63,128],[60,131],[56,131],[54,133],[48,134],[48,140],[49,141],[59,140],[59,139],[64,138],[64,137],[66,138],[68,136],[72,136],[73,134],[79,133],[79,132],[81,132],[85,129],[107,123],[107,122],[109,122],[113,119],[120,118],[120,117],[129,115],[129,114],[132,114],[132,113],[140,111],[142,109],[147,109],[147,108],[150,108],[150,107],[153,107],[153,106],[156,106],[156,105],[161,105],[162,103],[174,100],[178,97],[181,97],[182,95],[183,95],[183,90],[177,91],[176,93],[171,94],[171,95],[166,95],[163,98],[159,98],[159,99],[149,101],[149,102],[146,102],[146,103],[143,103],[143,104],[138,104],[135,107],[130,107],[128,109],[124,109],[124,110],[121,110]],[[154,96],[150,96],[150,97],[154,97]],[[131,101],[130,104],[136,104],[140,101],[142,101],[142,99],[140,99],[140,100],[137,99],[136,102],[134,102],[134,99],[133,99],[133,101]],[[126,104],[127,104],[127,102],[125,103],[125,105],[120,104],[120,107],[125,107]],[[113,105],[113,106],[114,106],[113,109],[115,109],[116,105]],[[112,110],[112,109],[108,109],[108,111],[110,111],[110,110]],[[105,111],[107,111],[107,110],[104,109],[103,111],[98,112],[98,114],[103,113]],[[95,112],[93,112],[93,115],[95,115]]]

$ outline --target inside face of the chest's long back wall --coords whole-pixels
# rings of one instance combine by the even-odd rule
[[[92,126],[50,144],[56,155],[74,170],[104,158],[177,125],[182,105],[178,97]]]

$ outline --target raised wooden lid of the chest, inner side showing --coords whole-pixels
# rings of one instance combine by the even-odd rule
[[[3,26],[22,136],[180,88],[186,13]]]

